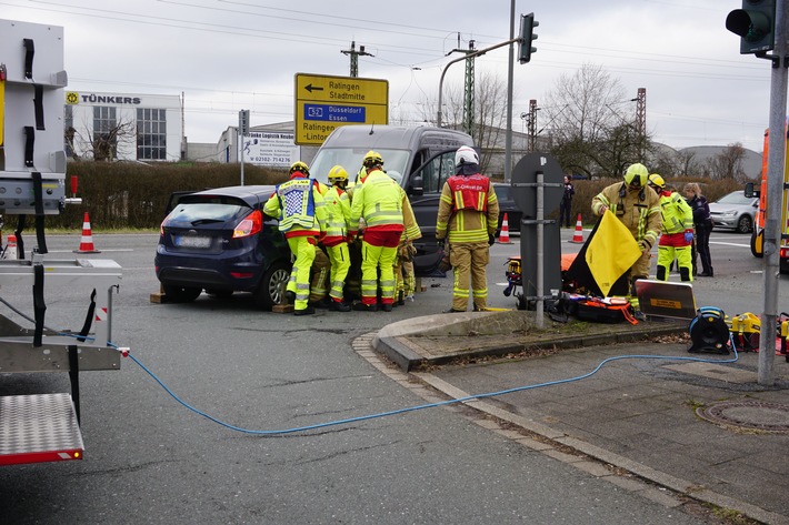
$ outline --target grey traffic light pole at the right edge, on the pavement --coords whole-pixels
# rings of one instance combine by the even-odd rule
[[[767,216],[765,220],[763,239],[763,282],[765,303],[761,315],[759,336],[759,374],[760,385],[772,385],[775,375],[772,365],[776,360],[776,322],[778,311],[778,277],[779,277],[779,249],[781,229],[781,205],[783,194],[783,159],[786,155],[787,134],[787,14],[789,14],[789,0],[776,2],[776,34],[772,57],[758,53],[760,58],[770,58],[772,72],[770,75],[770,137],[767,157]]]

